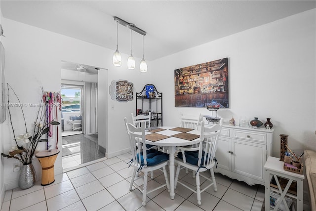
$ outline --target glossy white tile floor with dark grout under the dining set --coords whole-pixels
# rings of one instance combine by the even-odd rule
[[[41,186],[15,188],[5,192],[1,211],[261,211],[264,186],[248,186],[244,182],[216,173],[218,191],[212,187],[201,194],[201,206],[196,195],[178,185],[175,198],[171,200],[166,188],[147,195],[147,204],[142,206],[142,194],[134,188],[129,191],[132,168],[127,168],[129,153],[55,175],[55,182]],[[210,176],[209,173],[205,173]],[[192,173],[183,169],[179,179],[189,185],[195,184]],[[201,179],[201,184],[205,180]],[[142,182],[142,181],[140,181]],[[161,171],[149,177],[148,189],[164,182]],[[202,184],[203,187],[205,184]]]

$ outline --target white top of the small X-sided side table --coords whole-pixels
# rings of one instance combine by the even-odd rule
[[[304,179],[304,174],[294,173],[291,171],[287,171],[283,169],[284,162],[280,161],[279,158],[269,156],[267,162],[264,166],[265,169],[272,170],[278,172],[280,174],[285,174],[293,177],[297,177],[299,179]]]

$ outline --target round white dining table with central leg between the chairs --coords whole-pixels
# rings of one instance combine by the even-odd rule
[[[168,149],[169,169],[170,169],[170,171],[169,171],[169,174],[170,174],[170,198],[174,199],[174,196],[175,196],[175,194],[174,194],[174,169],[175,169],[175,167],[174,167],[174,154],[176,152],[176,147],[196,144],[197,142],[199,142],[200,139],[198,137],[198,138],[190,141],[190,140],[186,140],[186,139],[182,139],[182,138],[172,137],[171,135],[181,133],[181,131],[170,130],[170,129],[175,128],[175,127],[158,127],[158,128],[161,128],[164,130],[158,131],[155,133],[167,135],[170,137],[159,140],[159,141],[155,141],[155,142],[146,139],[145,143],[155,145],[155,146],[163,146],[164,148]],[[145,134],[151,134],[151,133],[152,132],[150,132],[150,131],[146,131]],[[200,131],[194,129],[194,130],[191,130],[187,133],[199,135]]]

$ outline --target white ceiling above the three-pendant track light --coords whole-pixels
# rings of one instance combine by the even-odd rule
[[[1,0],[4,18],[116,49],[117,16],[147,32],[145,59],[155,60],[206,42],[316,8],[315,0]],[[5,28],[4,36],[5,36]],[[118,25],[118,50],[130,53],[130,30]],[[142,36],[132,33],[142,57]]]

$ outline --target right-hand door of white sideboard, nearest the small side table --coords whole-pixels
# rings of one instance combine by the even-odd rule
[[[232,139],[232,171],[263,181],[266,145]]]

